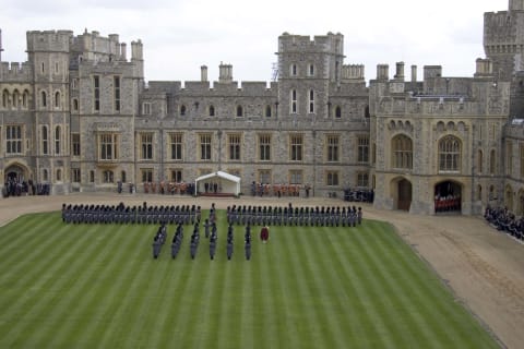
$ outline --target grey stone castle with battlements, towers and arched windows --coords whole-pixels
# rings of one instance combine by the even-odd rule
[[[426,65],[418,80],[412,65],[406,80],[398,62],[369,83],[344,63],[342,34],[284,33],[271,83],[238,83],[221,63],[218,81],[202,67],[182,84],[146,83],[141,40],[128,58],[118,35],[27,32],[27,61],[0,62],[0,177],[67,194],[222,170],[243,193],[366,188],[378,208],[434,214],[449,200],[465,215],[488,204],[523,215],[523,23],[524,0],[485,14],[473,77]]]

